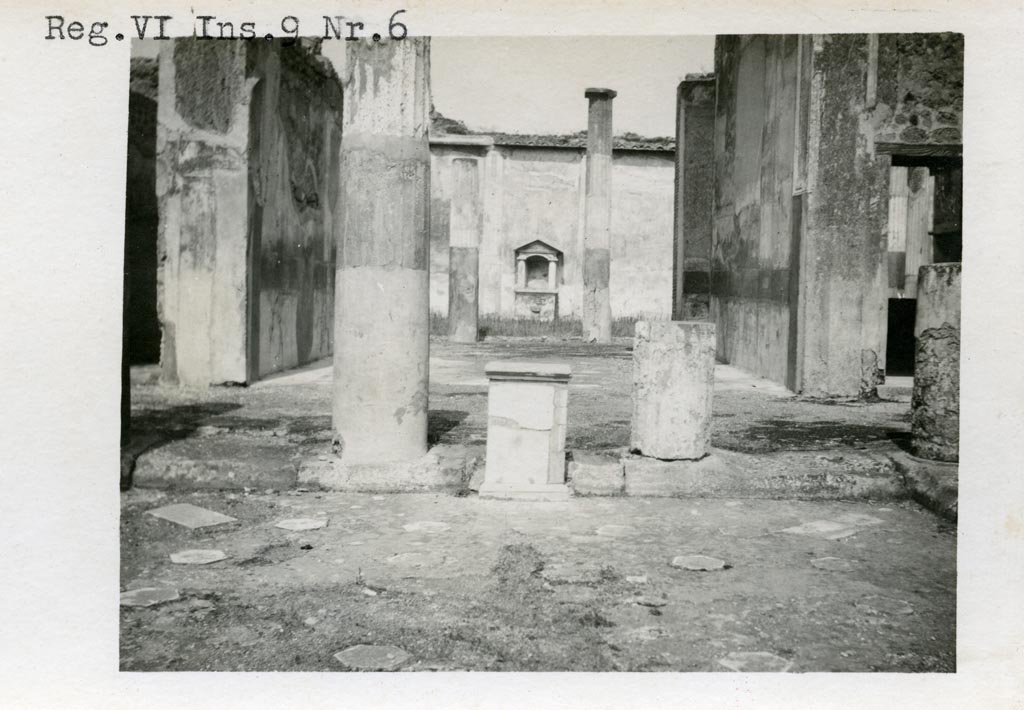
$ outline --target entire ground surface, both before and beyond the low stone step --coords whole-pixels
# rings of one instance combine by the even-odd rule
[[[629,341],[525,339],[431,343],[431,444],[484,443],[483,366],[501,358],[571,365],[569,451],[628,445]],[[905,495],[305,491],[295,461],[330,447],[328,363],[248,388],[179,390],[155,375],[132,372],[138,466],[171,452],[207,483],[225,462],[249,477],[122,494],[121,589],[173,597],[122,608],[123,670],[954,670],[955,529]],[[908,430],[905,402],[808,401],[727,366],[714,407],[713,444],[775,481],[815,462],[835,478],[898,451]],[[189,530],[146,512],[172,503],[237,519]],[[275,527],[288,518],[329,523]],[[225,558],[171,559],[197,549]],[[693,555],[713,569],[686,569]]]

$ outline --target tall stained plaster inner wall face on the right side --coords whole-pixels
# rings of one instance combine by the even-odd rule
[[[711,314],[718,358],[785,382],[791,358],[795,36],[716,42]]]

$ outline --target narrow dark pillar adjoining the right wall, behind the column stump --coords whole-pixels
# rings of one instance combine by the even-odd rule
[[[672,319],[702,321],[711,302],[715,203],[715,77],[688,74],[676,94]]]

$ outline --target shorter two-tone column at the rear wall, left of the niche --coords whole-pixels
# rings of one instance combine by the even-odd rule
[[[479,161],[452,161],[449,241],[449,338],[476,342],[480,266]]]

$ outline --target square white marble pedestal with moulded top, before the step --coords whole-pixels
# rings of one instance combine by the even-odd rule
[[[484,371],[487,456],[480,496],[565,500],[565,425],[571,370],[562,363],[495,362]]]

